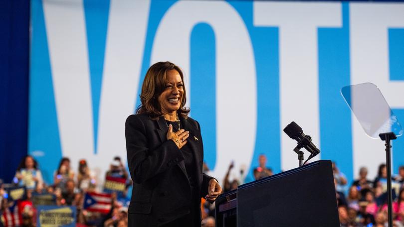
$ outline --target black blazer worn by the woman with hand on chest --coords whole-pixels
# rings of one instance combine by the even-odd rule
[[[202,173],[200,125],[191,117],[180,120],[181,128],[190,131],[186,146],[194,152],[197,188],[204,197],[212,177]],[[128,226],[160,226],[190,213],[191,185],[184,156],[173,140],[167,140],[167,131],[164,117],[152,120],[147,114],[136,114],[126,119],[128,166],[134,182]]]

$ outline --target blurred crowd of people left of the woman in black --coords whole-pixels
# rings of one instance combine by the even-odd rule
[[[125,191],[122,193],[109,192],[104,193],[108,196],[110,206],[107,212],[93,212],[85,209],[84,200],[87,193],[100,192],[97,189],[96,176],[90,170],[86,160],[82,159],[78,163],[77,171],[70,166],[70,160],[63,157],[54,172],[53,184],[46,184],[42,178],[41,171],[35,159],[27,155],[19,164],[15,177],[10,184],[0,182],[0,227],[35,227],[37,226],[37,207],[35,198],[48,195],[46,205],[52,206],[71,206],[76,212],[75,222],[78,227],[85,226],[103,226],[103,227],[126,227],[128,217],[128,202],[126,202],[126,193],[132,184],[128,178],[128,172],[124,167],[120,157],[115,157],[106,172],[105,177],[114,177],[124,179],[126,182]],[[23,195],[19,195],[17,201],[14,201],[8,195],[7,189],[23,187]],[[12,194],[12,193],[10,193]],[[40,205],[44,205],[39,203]]]

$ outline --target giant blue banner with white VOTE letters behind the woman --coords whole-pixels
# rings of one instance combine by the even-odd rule
[[[297,167],[295,141],[282,132],[291,121],[320,148],[317,159],[336,161],[348,180],[362,166],[376,176],[383,143],[352,117],[346,85],[376,84],[404,119],[404,3],[66,2],[31,0],[29,153],[47,182],[62,156],[104,172],[126,157],[125,119],[158,61],[183,69],[217,179],[234,162],[232,177],[253,180],[260,154],[274,173]]]

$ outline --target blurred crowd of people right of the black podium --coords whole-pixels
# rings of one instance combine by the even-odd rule
[[[362,167],[359,176],[348,184],[345,175],[333,163],[339,219],[342,227],[385,227],[388,225],[387,168],[381,164],[374,180],[368,178],[368,169]],[[392,177],[393,222],[404,226],[404,166]],[[348,189],[348,190],[346,190]]]

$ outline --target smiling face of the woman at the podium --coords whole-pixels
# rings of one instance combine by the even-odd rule
[[[184,95],[184,82],[177,70],[166,73],[166,86],[159,96],[161,111],[164,114],[176,112],[180,109]]]

